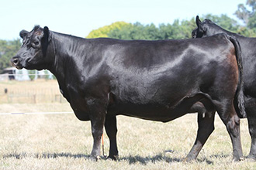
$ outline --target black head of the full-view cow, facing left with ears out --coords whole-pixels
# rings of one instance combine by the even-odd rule
[[[49,62],[47,47],[50,43],[50,31],[47,26],[43,29],[35,26],[31,32],[22,30],[19,36],[22,38],[22,46],[16,56],[12,57],[12,66],[28,70],[46,69]]]

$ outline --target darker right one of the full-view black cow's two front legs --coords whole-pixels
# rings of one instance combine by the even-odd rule
[[[105,129],[110,142],[109,158],[116,160],[116,158],[118,158],[118,150],[116,145],[116,116],[109,116],[108,114],[106,115]]]

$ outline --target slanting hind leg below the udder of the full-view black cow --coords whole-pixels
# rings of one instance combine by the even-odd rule
[[[204,114],[198,114],[198,131],[195,139],[195,143],[192,149],[189,151],[189,155],[185,158],[186,162],[195,160],[199,155],[199,152],[202,149],[202,146],[206,143],[206,140],[209,138],[209,135],[214,131],[214,117],[215,111],[206,112]]]

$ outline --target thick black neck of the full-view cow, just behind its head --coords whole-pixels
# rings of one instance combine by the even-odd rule
[[[78,75],[78,65],[81,65],[81,53],[86,49],[81,49],[85,39],[74,36],[67,36],[54,32],[52,34],[50,54],[52,54],[52,66],[50,72],[54,73],[59,83],[61,93],[69,100],[67,85],[75,82]],[[74,85],[74,84],[73,84]]]

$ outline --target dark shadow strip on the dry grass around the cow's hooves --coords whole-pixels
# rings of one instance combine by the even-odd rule
[[[169,152],[169,151],[164,151]],[[227,158],[229,155],[210,155],[210,158]],[[90,155],[85,154],[71,154],[71,153],[35,153],[35,154],[28,154],[28,153],[15,153],[15,154],[9,154],[9,155],[3,155],[3,158],[16,158],[16,159],[22,159],[22,158],[85,158],[90,159]],[[108,158],[102,156],[102,160],[109,160]],[[147,165],[148,163],[154,163],[154,162],[184,162],[183,158],[173,158],[171,155],[164,155],[162,152],[157,155],[150,155],[150,156],[140,156],[140,155],[130,155],[130,156],[124,156],[118,158],[117,162],[119,161],[126,161],[129,162],[129,164],[137,164],[140,163],[142,165]],[[210,161],[208,158],[201,158],[196,159],[196,162],[206,162],[209,165],[212,165],[213,162]]]

